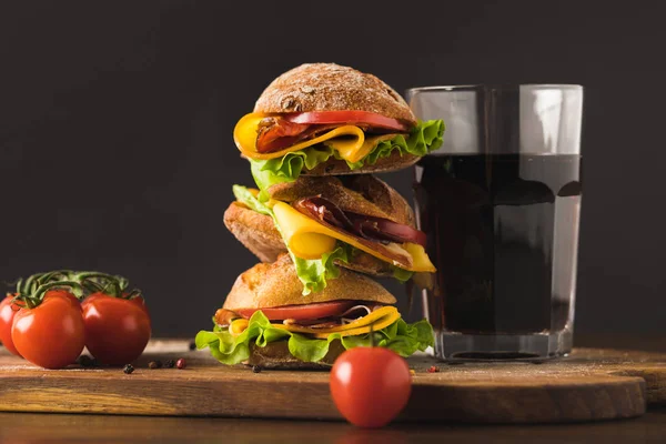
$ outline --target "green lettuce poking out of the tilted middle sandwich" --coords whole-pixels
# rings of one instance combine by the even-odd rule
[[[271,210],[263,201],[255,198],[254,194],[245,186],[233,185],[233,194],[239,202],[244,203],[250,209],[265,215],[270,215],[275,221],[273,210]],[[275,228],[280,230],[275,223]],[[344,242],[337,242],[337,248],[332,252],[325,253],[321,259],[301,259],[296,258],[291,250],[289,254],[296,268],[296,275],[303,283],[303,294],[310,292],[320,292],[326,287],[329,279],[340,276],[340,268],[333,262],[335,260],[349,263],[352,258],[353,246]]]

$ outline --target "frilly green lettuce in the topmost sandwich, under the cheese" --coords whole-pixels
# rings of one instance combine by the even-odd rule
[[[350,170],[356,170],[366,164],[373,165],[379,159],[391,155],[394,150],[398,150],[401,155],[405,153],[425,155],[442,145],[443,135],[444,122],[442,120],[418,121],[408,137],[400,134],[391,140],[382,141],[365,158],[359,162],[347,162],[347,165]],[[278,159],[250,160],[252,176],[261,190],[260,199],[268,200],[265,190],[271,185],[293,182],[301,175],[303,168],[312,170],[332,155],[341,159],[337,152],[324,142]]]

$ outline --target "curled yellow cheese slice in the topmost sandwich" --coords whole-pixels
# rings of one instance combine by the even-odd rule
[[[344,125],[335,128],[314,139],[305,140],[303,142],[296,143],[295,145],[285,148],[280,151],[271,153],[260,153],[256,152],[256,128],[259,125],[259,122],[268,115],[269,114],[263,114],[259,112],[246,114],[243,118],[241,118],[241,120],[239,120],[235,128],[233,129],[233,140],[239,150],[246,158],[254,160],[282,158],[286,153],[293,151],[301,151],[304,148],[322,143],[334,138],[345,137],[344,141],[336,141],[336,144],[343,142],[341,147],[345,151],[345,154],[341,153],[341,155],[343,157],[343,159],[346,159],[344,158],[344,155],[353,157],[354,153],[356,153],[363,148],[363,143],[365,142],[365,134],[363,133],[362,129],[355,125]]]

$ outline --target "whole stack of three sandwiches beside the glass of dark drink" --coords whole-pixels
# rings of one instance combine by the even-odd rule
[[[441,120],[416,121],[374,75],[330,63],[276,78],[234,129],[256,189],[234,185],[226,228],[261,263],[242,273],[200,332],[224,364],[326,367],[345,349],[403,356],[433,343],[366,275],[433,273],[408,203],[373,172],[414,164],[442,143]]]

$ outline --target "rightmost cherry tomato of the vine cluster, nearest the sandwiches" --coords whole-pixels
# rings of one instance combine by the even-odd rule
[[[123,365],[141,356],[151,333],[143,297],[127,300],[94,293],[82,306],[85,346],[99,362]]]

